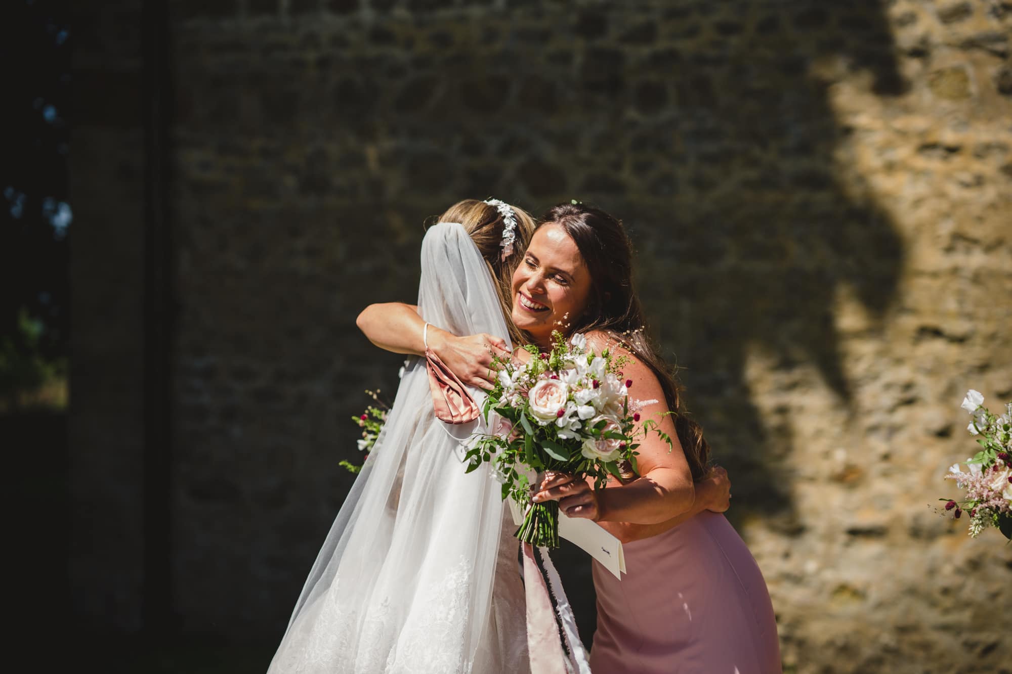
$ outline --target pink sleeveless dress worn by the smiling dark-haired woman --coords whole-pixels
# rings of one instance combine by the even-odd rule
[[[594,674],[781,671],[766,582],[724,515],[703,512],[622,547],[621,581],[594,562]]]

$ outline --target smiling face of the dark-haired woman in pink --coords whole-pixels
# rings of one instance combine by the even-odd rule
[[[513,323],[539,346],[547,346],[553,330],[568,334],[566,324],[583,314],[590,285],[590,272],[576,242],[562,226],[542,225],[513,272]]]

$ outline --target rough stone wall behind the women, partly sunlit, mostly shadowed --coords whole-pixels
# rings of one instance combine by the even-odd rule
[[[1012,6],[172,7],[187,629],[279,639],[396,383],[354,318],[414,298],[425,220],[579,198],[632,234],[787,670],[1010,671],[1009,547],[931,506],[964,391],[1012,397]]]

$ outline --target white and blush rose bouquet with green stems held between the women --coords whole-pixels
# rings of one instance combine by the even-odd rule
[[[502,498],[527,508],[516,537],[547,547],[559,546],[559,502],[532,503],[527,476],[518,468],[590,477],[600,489],[608,475],[621,477],[623,461],[637,471],[638,438],[655,431],[673,446],[656,421],[636,430],[640,413],[632,408],[657,401],[630,407],[632,382],[623,382],[621,371],[627,356],[588,351],[584,335],[567,342],[556,331],[553,340],[549,353],[524,347],[532,356],[526,364],[496,359],[499,374],[483,412],[486,423],[490,412],[502,417],[502,432],[473,436],[465,457],[469,473],[495,461]]]

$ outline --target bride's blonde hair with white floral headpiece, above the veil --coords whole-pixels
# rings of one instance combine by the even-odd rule
[[[499,294],[503,318],[506,319],[509,328],[510,341],[516,346],[526,344],[530,339],[517,330],[510,318],[513,312],[513,272],[523,259],[523,252],[527,250],[527,244],[530,243],[530,237],[533,236],[537,223],[523,208],[512,203],[509,205],[516,220],[514,230],[516,241],[513,243],[513,254],[505,260],[501,259],[505,223],[494,205],[478,199],[463,199],[447,208],[436,222],[459,223],[478,246],[496,282],[496,292]]]

